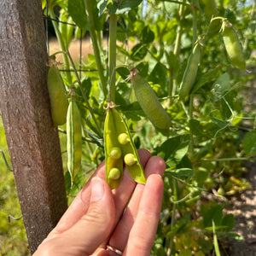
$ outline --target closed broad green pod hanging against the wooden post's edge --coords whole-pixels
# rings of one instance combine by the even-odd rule
[[[68,101],[61,73],[53,60],[49,61],[47,85],[53,123],[55,126],[64,125],[66,123]]]

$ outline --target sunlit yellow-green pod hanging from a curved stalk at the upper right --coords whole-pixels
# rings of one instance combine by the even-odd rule
[[[227,19],[223,20],[222,32],[225,49],[229,55],[230,63],[234,67],[246,69],[246,62],[242,53],[241,44],[232,24]]]

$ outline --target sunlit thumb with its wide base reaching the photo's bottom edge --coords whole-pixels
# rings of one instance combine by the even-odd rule
[[[35,255],[90,255],[108,238],[113,226],[113,216],[111,189],[105,180],[95,177],[91,180],[88,212],[70,229],[52,232]]]

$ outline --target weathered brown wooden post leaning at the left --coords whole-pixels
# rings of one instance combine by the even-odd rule
[[[0,17],[0,109],[33,253],[67,209],[41,0],[1,0]]]

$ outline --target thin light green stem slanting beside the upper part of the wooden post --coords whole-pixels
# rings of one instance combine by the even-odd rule
[[[67,70],[67,72],[66,72],[67,81],[71,84],[72,83],[72,77],[71,77],[71,74],[69,72],[69,61],[68,61],[68,58],[67,58],[67,55],[66,55],[67,47],[64,44],[63,38],[61,37],[61,32],[60,32],[59,27],[58,27],[58,23],[55,20],[55,12],[54,12],[52,4],[49,4],[49,16],[52,19],[51,22],[52,22],[52,25],[54,26],[56,37],[57,37],[58,42],[61,46],[61,51],[63,52],[63,60],[64,60],[64,64],[65,64],[65,69]]]

